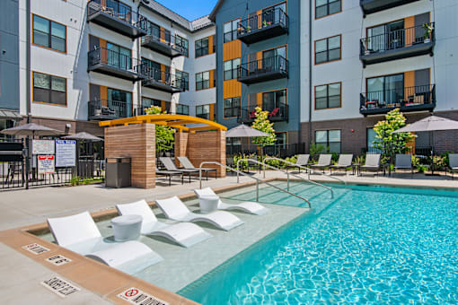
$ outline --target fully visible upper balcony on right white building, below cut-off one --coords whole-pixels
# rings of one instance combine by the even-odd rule
[[[433,56],[436,44],[435,23],[374,35],[361,39],[359,44],[359,59],[365,67],[407,57],[426,54]]]

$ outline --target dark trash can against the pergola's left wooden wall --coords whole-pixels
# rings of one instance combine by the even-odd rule
[[[107,158],[105,187],[130,187],[130,158]]]

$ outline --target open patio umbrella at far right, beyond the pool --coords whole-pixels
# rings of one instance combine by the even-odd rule
[[[430,134],[431,141],[431,158],[433,158],[434,152],[434,132],[441,130],[457,130],[458,121],[454,121],[448,118],[436,117],[431,115],[427,118],[422,118],[415,123],[410,124],[409,126],[402,127],[398,130],[393,131],[393,133],[416,133],[421,131],[427,131]],[[434,173],[434,167],[432,169]]]

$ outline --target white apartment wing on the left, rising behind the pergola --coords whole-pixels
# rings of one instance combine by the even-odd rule
[[[152,105],[214,118],[216,31],[207,17],[189,22],[152,0],[5,3],[19,15],[11,31],[20,56],[8,68],[19,79],[2,75],[2,91],[17,88],[7,100],[29,121],[102,135],[99,121],[142,115]],[[0,108],[11,108],[4,99]]]

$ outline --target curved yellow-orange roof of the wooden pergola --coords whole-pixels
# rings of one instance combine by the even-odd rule
[[[186,126],[181,126],[179,124],[180,120],[192,122],[189,124],[206,124],[207,126],[189,128]],[[205,118],[189,117],[189,116],[183,116],[183,115],[167,115],[167,114],[146,115],[146,116],[137,116],[137,117],[130,117],[130,118],[118,118],[118,119],[113,119],[110,121],[99,122],[99,126],[101,127],[124,126],[125,124],[142,124],[142,123],[153,123],[156,125],[169,126],[169,123],[171,123],[172,121],[175,121],[173,123],[176,124],[176,125],[173,125],[173,128],[179,128],[181,130],[185,130],[189,132],[196,131],[196,130],[215,130],[215,129],[227,130],[226,126],[223,126],[221,124],[218,124],[216,122],[210,121]]]

